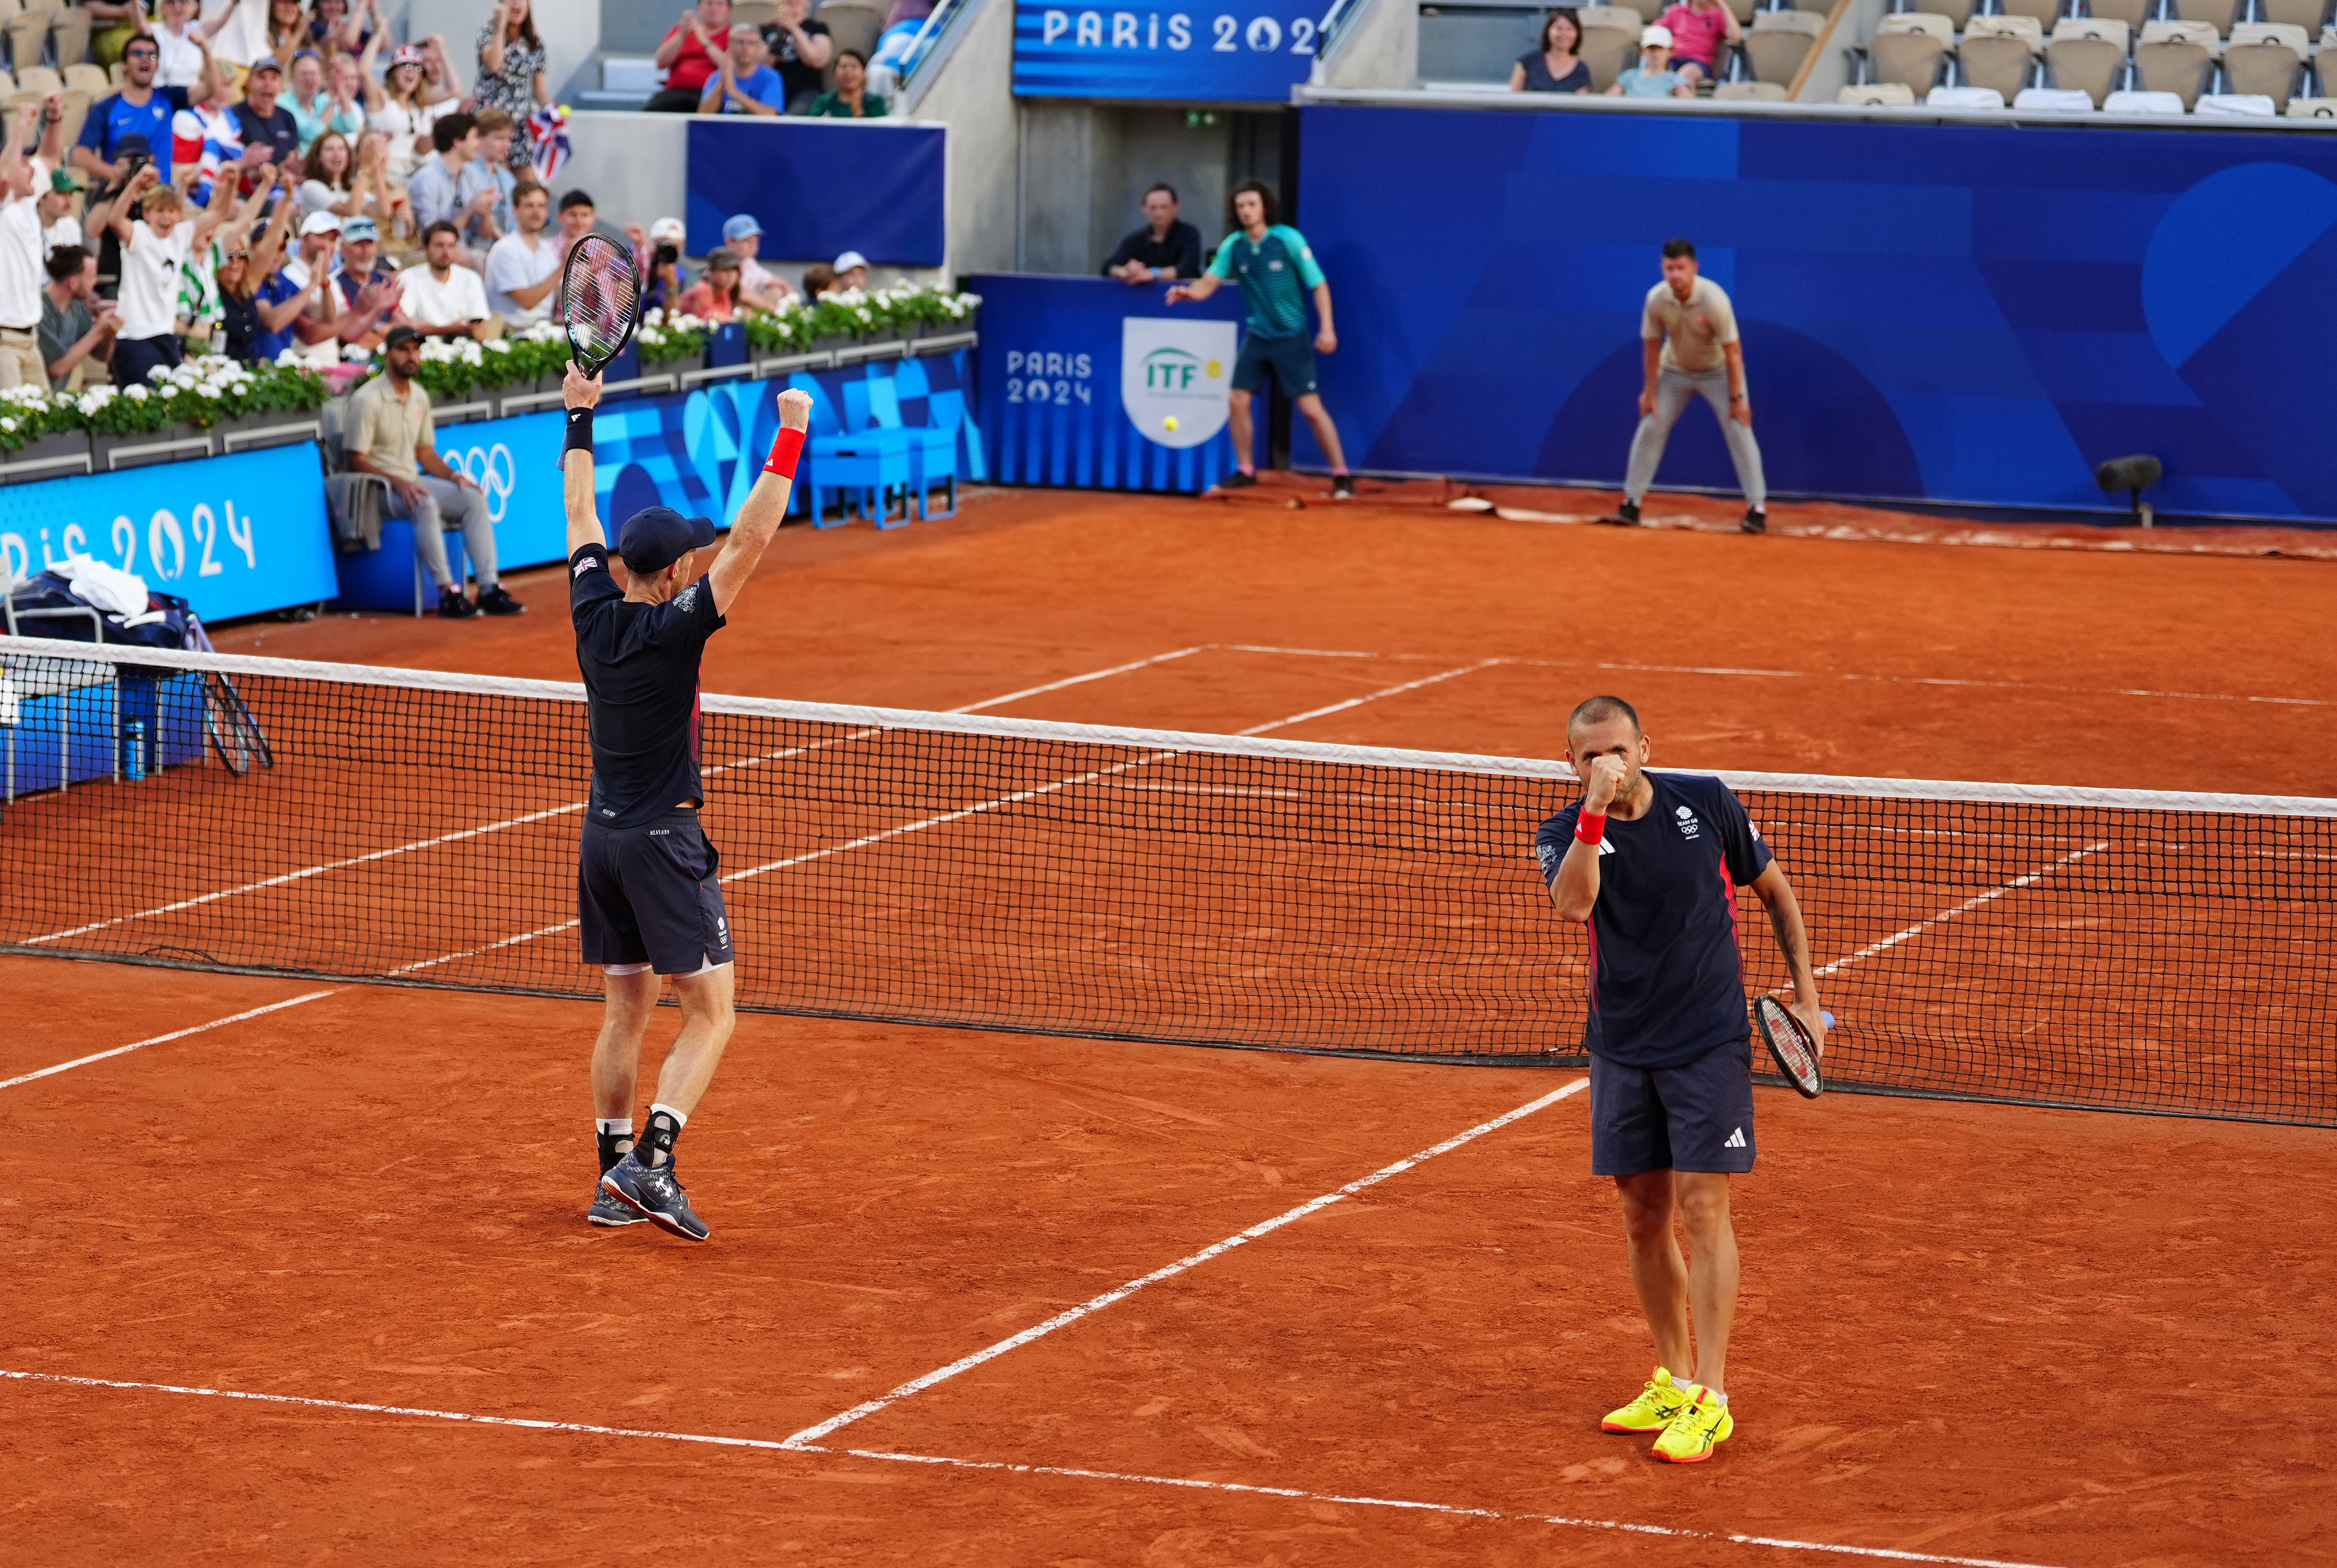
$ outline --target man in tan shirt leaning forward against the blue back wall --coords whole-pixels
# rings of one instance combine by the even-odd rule
[[[1711,278],[1697,276],[1697,248],[1687,241],[1664,241],[1664,280],[1648,290],[1648,313],[1641,320],[1641,346],[1648,381],[1638,395],[1638,435],[1631,437],[1631,465],[1624,470],[1622,507],[1606,523],[1638,526],[1638,502],[1655,484],[1671,428],[1687,411],[1690,397],[1704,397],[1720,418],[1736,484],[1746,493],[1746,516],[1739,528],[1762,533],[1769,488],[1760,472],[1760,444],[1753,439],[1753,402],[1746,397],[1746,351],[1736,341],[1736,308]]]

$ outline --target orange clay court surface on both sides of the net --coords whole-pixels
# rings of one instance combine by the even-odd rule
[[[1615,689],[1671,764],[2332,795],[2328,570],[986,495],[788,530],[706,685],[1521,755]],[[573,680],[514,591],[220,645]],[[582,1224],[594,1005],[0,984],[49,1561],[2337,1556],[2328,1131],[1762,1091],[1739,1432],[1673,1470],[1596,1430],[1648,1346],[1577,1073],[748,1014],[687,1248]]]

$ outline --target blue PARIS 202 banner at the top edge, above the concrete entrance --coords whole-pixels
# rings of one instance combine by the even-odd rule
[[[1112,7],[1014,0],[1014,91],[1024,98],[1290,103],[1313,70],[1330,0]]]

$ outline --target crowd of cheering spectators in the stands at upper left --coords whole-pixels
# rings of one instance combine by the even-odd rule
[[[196,353],[325,369],[393,334],[495,339],[552,315],[568,245],[596,229],[633,245],[643,308],[724,322],[797,292],[748,215],[685,276],[680,220],[617,229],[589,192],[554,194],[540,171],[566,154],[563,115],[533,0],[495,0],[467,61],[444,37],[397,44],[379,0],[65,9],[86,42],[44,47],[61,65],[86,51],[115,91],[70,145],[65,93],[0,124],[0,390],[136,386]],[[727,26],[729,0],[685,12],[652,107],[883,115],[809,9],[783,0],[760,30]],[[865,278],[848,252],[804,297]]]

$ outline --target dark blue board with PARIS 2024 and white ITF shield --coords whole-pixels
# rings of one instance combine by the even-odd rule
[[[1197,493],[1234,467],[1234,290],[1180,306],[1166,283],[982,273],[972,290],[1000,484]]]

